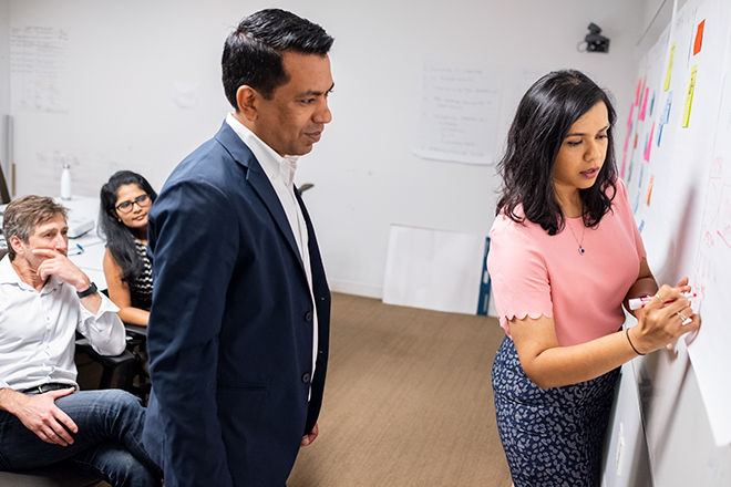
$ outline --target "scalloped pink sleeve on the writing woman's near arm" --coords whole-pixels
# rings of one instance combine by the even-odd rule
[[[508,336],[507,322],[513,318],[553,318],[548,270],[533,231],[502,214],[490,231],[487,270],[500,324]]]

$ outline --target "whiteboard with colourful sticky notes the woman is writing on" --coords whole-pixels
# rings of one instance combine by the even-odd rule
[[[657,486],[731,485],[729,25],[723,0],[672,15],[640,62],[622,147],[650,268],[660,283],[690,277],[703,315],[698,336],[634,362]]]

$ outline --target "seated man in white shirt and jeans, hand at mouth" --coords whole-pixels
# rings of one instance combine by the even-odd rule
[[[94,350],[125,348],[119,309],[66,257],[65,209],[51,198],[11,201],[0,260],[0,470],[70,460],[113,486],[159,486],[141,442],[145,410],[120,390],[79,392],[75,332]]]

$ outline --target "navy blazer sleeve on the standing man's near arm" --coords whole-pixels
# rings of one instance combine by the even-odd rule
[[[147,346],[168,487],[233,486],[217,415],[218,340],[238,253],[237,219],[205,182],[166,188],[150,220],[154,290]]]

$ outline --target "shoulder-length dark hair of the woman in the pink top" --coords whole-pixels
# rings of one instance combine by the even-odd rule
[[[554,71],[536,81],[521,100],[507,134],[507,148],[497,165],[503,177],[497,213],[514,221],[540,225],[548,235],[564,228],[565,216],[556,199],[553,170],[556,156],[572,125],[594,105],[604,102],[609,114],[607,156],[595,184],[579,189],[584,225],[595,227],[616,193],[612,127],[616,113],[609,96],[579,71]],[[608,188],[611,188],[609,191]],[[523,216],[516,213],[523,206]]]

